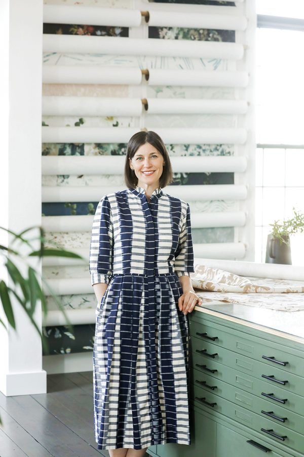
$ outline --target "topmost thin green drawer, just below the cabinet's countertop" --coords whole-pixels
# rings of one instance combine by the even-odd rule
[[[270,347],[268,341],[263,340],[262,338],[251,335],[248,335],[248,338],[246,338],[246,335],[242,332],[238,332],[234,329],[227,329],[226,327],[215,323],[211,324],[212,327],[211,325],[206,325],[205,323],[192,318],[190,323],[191,335],[200,338],[202,341],[212,341],[216,346],[224,347],[225,349],[230,349],[239,354],[254,358],[257,361],[268,365],[270,370],[272,368],[280,369],[282,370],[282,375],[284,375],[284,372],[287,372],[304,377],[304,354],[301,357],[284,352],[280,348],[274,349]],[[198,333],[200,335],[206,335],[199,336]],[[213,341],[209,340],[208,337],[216,339]],[[277,346],[275,343],[272,343],[272,345]],[[267,360],[263,358],[263,356],[274,357],[274,360],[280,363],[288,363],[284,366]]]

